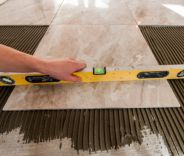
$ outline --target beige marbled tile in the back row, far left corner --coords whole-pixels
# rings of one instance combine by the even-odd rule
[[[0,5],[0,25],[47,25],[63,0],[13,0]]]

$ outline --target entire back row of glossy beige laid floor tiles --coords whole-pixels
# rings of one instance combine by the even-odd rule
[[[54,24],[184,25],[184,1],[0,0],[0,25],[50,24],[54,17]]]

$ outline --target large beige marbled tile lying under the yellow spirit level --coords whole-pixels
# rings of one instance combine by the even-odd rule
[[[136,26],[50,27],[38,57],[80,58],[92,66],[156,65]],[[4,110],[179,107],[167,81],[16,87]]]

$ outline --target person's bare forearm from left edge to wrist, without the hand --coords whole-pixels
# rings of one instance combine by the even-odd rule
[[[0,45],[0,72],[41,72],[42,59]]]

